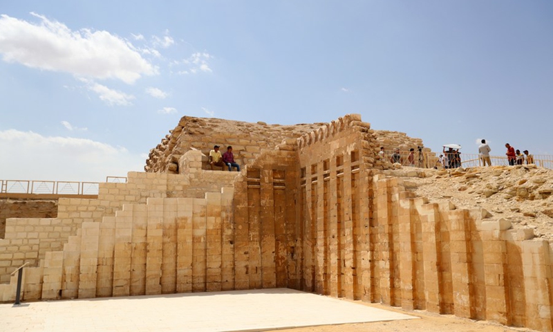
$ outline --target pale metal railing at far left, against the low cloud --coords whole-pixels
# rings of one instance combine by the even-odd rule
[[[124,176],[107,176],[106,183],[126,183]],[[0,180],[0,194],[97,195],[98,182]]]

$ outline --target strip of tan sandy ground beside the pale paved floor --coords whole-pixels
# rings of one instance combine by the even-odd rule
[[[362,303],[362,302],[359,302]],[[366,304],[375,308],[404,313],[420,317],[418,320],[395,320],[391,322],[371,322],[361,324],[341,324],[300,327],[297,329],[281,329],[279,332],[512,332],[534,331],[525,328],[503,326],[495,322],[467,320],[453,315],[438,315],[426,311],[404,311],[401,308],[392,308],[382,304]]]

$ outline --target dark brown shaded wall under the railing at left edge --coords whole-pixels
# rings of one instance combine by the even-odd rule
[[[57,200],[0,199],[0,239],[6,234],[8,218],[55,218]]]

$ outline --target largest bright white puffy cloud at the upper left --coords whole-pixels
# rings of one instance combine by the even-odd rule
[[[95,79],[115,78],[128,84],[142,75],[158,73],[132,44],[108,31],[73,31],[58,21],[31,15],[39,18],[39,23],[0,15],[4,61]]]

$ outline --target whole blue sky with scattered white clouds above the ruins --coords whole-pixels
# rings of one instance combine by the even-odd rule
[[[182,116],[360,113],[440,151],[553,154],[553,1],[0,4],[0,179],[141,171]]]

